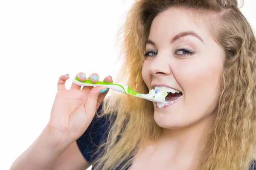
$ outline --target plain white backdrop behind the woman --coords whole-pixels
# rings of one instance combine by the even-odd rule
[[[0,0],[0,169],[46,126],[60,75],[119,68],[117,30],[133,0]],[[241,11],[256,28],[256,2]]]

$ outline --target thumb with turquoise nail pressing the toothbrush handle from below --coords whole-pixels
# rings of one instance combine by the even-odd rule
[[[88,94],[87,101],[84,104],[85,113],[90,119],[93,119],[93,116],[95,115],[95,112],[97,110],[96,106],[98,104],[98,98],[101,94],[101,91],[105,90],[104,86],[97,86],[93,88],[90,93]]]

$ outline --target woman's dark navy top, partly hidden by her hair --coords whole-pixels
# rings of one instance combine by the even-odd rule
[[[100,113],[101,110],[102,110],[102,104],[99,106],[98,113]],[[98,155],[93,155],[93,153],[95,153],[97,150],[97,146],[99,146],[99,144],[108,137],[109,124],[110,122],[107,119],[107,116],[102,116],[99,118],[95,114],[87,130],[79,139],[76,140],[79,150],[84,156],[84,159],[90,164],[98,156]],[[253,164],[255,166],[254,169],[253,169]],[[249,170],[256,170],[255,160],[253,161],[253,164]],[[119,170],[119,169],[121,169],[121,167],[118,167],[116,170]],[[94,170],[93,167],[92,167],[92,170]]]

